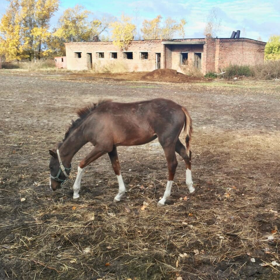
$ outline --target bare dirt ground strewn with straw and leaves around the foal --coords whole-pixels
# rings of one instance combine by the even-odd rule
[[[136,80],[0,72],[0,279],[279,279],[279,81]],[[72,201],[88,144],[71,182],[50,190],[48,149],[75,109],[158,97],[192,116],[194,195],[177,155],[171,197],[156,206],[167,180],[157,140],[118,148],[127,192],[117,204],[108,156],[88,167]]]

